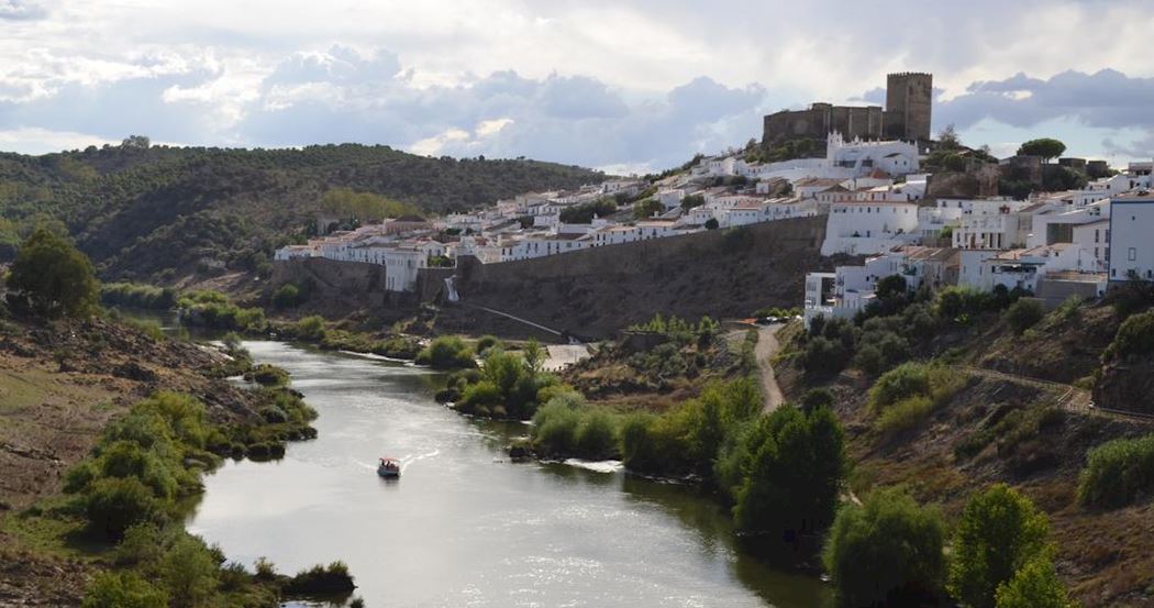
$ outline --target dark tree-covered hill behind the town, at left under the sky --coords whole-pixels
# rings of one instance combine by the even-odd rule
[[[427,212],[604,175],[533,160],[427,158],[388,147],[242,150],[133,145],[0,155],[0,261],[44,219],[63,223],[105,279],[175,283],[268,269],[331,188]]]

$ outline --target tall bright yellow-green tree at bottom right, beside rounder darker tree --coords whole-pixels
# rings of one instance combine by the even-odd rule
[[[966,504],[954,533],[950,594],[972,608],[994,608],[999,585],[1043,554],[1046,516],[1005,483]]]

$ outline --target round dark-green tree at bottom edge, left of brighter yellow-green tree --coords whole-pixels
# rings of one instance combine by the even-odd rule
[[[944,541],[936,509],[879,490],[838,512],[822,557],[842,606],[916,606],[942,588]]]

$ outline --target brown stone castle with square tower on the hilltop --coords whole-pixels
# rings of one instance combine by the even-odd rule
[[[934,98],[931,74],[902,72],[886,77],[885,110],[881,106],[837,106],[815,103],[808,110],[782,110],[765,117],[762,143],[787,140],[825,140],[840,133],[854,140],[930,138]]]

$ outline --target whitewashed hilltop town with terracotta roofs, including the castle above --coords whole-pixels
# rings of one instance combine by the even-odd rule
[[[759,144],[660,175],[526,193],[430,219],[351,226],[355,218],[320,217],[320,237],[275,260],[379,264],[385,291],[405,293],[426,269],[464,257],[500,264],[823,216],[820,254],[862,263],[807,276],[797,302],[807,321],[854,316],[890,275],[905,277],[911,291],[1001,285],[1050,306],[1101,295],[1110,282],[1151,278],[1154,249],[1142,234],[1154,220],[1152,163],[1119,172],[1101,160],[1051,163],[1026,148],[997,160],[952,133],[929,140],[930,75],[893,74],[887,84],[884,110],[814,104],[770,114]],[[1051,179],[1056,172],[1061,179]],[[1130,219],[1115,227],[1116,204]],[[328,230],[342,225],[350,230]]]

